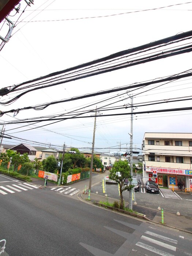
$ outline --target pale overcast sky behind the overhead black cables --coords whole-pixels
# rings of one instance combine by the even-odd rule
[[[20,4],[19,14],[15,15],[13,11],[12,17],[9,17],[16,24],[12,37],[0,51],[0,88],[9,88],[34,78],[192,30],[192,1],[34,0],[34,4],[27,8],[24,0]],[[22,12],[24,9],[25,12]],[[2,25],[3,22],[0,24],[0,35],[6,30],[6,26]],[[192,53],[184,53],[31,91],[10,105],[0,104],[0,110],[5,112],[27,108],[180,74],[191,69],[191,59]],[[21,110],[15,116],[14,113],[3,114],[0,117],[0,129],[8,121],[26,118],[39,120],[43,116],[49,117],[71,111],[76,113],[78,109],[85,112],[92,111],[91,114],[85,113],[84,118],[67,119],[54,124],[51,124],[53,123],[51,121],[6,124],[5,134],[16,138],[3,138],[2,143],[26,143],[58,149],[65,143],[67,147],[90,150],[97,107],[95,151],[100,153],[129,151],[131,116],[125,113],[131,111],[130,108],[120,107],[130,107],[131,97],[133,97],[133,148],[136,151],[141,150],[145,132],[191,132],[192,110],[134,114],[147,110],[191,107],[191,100],[167,102],[167,99],[192,95],[190,77],[162,84],[158,88],[155,88],[156,86],[149,85],[147,89],[137,91],[124,90],[58,103],[44,110]],[[17,94],[16,92],[7,94],[0,98],[0,102],[5,102]],[[162,100],[165,103],[138,106],[144,102],[150,104]],[[106,112],[104,106],[113,109]],[[120,113],[124,115],[104,116]],[[45,126],[39,127],[42,125]]]

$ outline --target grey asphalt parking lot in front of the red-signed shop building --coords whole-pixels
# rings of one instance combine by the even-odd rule
[[[102,191],[102,183],[92,187],[91,193],[98,192],[103,195],[103,201],[107,201],[105,194]],[[118,195],[117,184],[106,184],[107,197],[120,200]],[[125,206],[129,203],[129,191],[123,192]],[[159,194],[146,193],[145,187],[140,187],[139,192],[135,192],[135,201],[138,206],[157,210],[158,207],[164,211],[176,214],[177,211],[181,215],[192,218],[192,193],[185,191],[172,191],[170,189],[160,188]]]

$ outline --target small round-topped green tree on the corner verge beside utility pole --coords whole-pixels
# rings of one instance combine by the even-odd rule
[[[118,175],[118,172],[120,173]],[[131,188],[131,185],[126,185],[123,188],[124,185],[124,181],[126,179],[128,179],[129,181],[132,180],[132,177],[130,175],[130,166],[128,165],[128,162],[125,161],[118,161],[115,162],[113,165],[113,168],[110,170],[110,174],[109,174],[109,178],[110,180],[114,180],[117,182],[117,184],[119,185],[120,188],[120,209],[124,208],[124,202],[123,202],[123,191],[127,190],[128,188]]]

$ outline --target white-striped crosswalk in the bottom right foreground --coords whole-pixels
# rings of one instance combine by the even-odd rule
[[[177,242],[177,240],[172,238],[146,230],[144,235],[141,236],[141,241],[137,242],[136,246],[158,255],[173,256],[177,249]],[[165,249],[168,249],[169,251],[164,251]]]

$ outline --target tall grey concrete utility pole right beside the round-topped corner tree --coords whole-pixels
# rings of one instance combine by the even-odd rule
[[[130,135],[130,175],[133,176],[133,97],[131,97],[131,133]],[[129,183],[132,185],[132,181]],[[134,188],[133,188],[134,189]],[[129,210],[133,209],[132,196],[133,189],[129,189]]]

